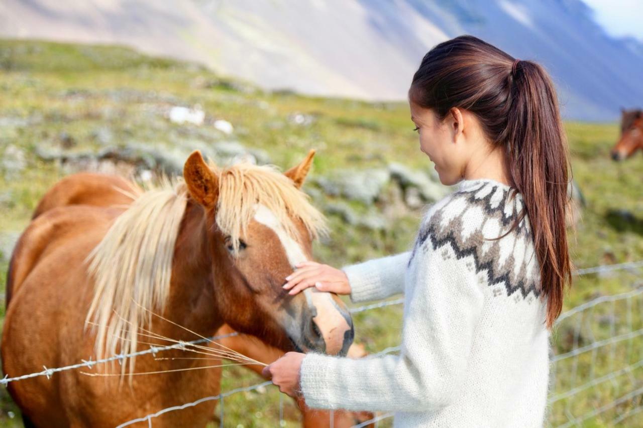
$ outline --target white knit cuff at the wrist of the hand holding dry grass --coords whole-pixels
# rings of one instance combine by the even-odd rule
[[[336,358],[320,353],[307,353],[299,372],[299,385],[306,406],[312,409],[332,409],[333,394],[337,388],[331,382],[330,373],[335,368]]]

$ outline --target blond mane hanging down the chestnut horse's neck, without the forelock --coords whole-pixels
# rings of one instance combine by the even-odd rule
[[[185,183],[162,179],[158,188],[138,195],[87,256],[94,297],[86,323],[96,331],[98,358],[135,352],[149,311],[163,310],[187,197]]]

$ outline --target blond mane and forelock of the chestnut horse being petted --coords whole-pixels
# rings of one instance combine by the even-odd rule
[[[210,163],[210,168],[217,171]],[[217,172],[219,200],[215,221],[238,249],[238,240],[255,215],[257,204],[271,210],[294,239],[299,218],[312,238],[325,233],[325,218],[275,166],[239,163]],[[174,246],[189,193],[183,179],[141,193],[119,215],[87,256],[95,280],[86,323],[96,332],[98,358],[136,352],[138,332],[162,313],[170,293]],[[135,358],[129,359],[129,372]],[[122,364],[122,374],[125,373]]]

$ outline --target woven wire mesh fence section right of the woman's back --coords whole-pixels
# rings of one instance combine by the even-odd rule
[[[550,424],[643,426],[643,283],[560,317],[551,361]]]

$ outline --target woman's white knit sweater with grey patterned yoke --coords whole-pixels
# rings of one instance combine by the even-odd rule
[[[395,427],[541,427],[549,337],[520,193],[461,181],[430,206],[413,251],[343,268],[354,302],[404,292],[400,355],[309,353],[310,407],[395,412]]]

